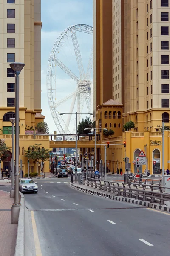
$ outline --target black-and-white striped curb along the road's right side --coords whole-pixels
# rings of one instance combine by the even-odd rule
[[[170,212],[170,207],[167,207],[167,206],[164,206],[164,205],[154,204],[154,203],[150,203],[150,202],[147,202],[147,201],[145,202],[145,201],[142,201],[142,200],[136,200],[136,199],[133,199],[133,198],[110,195],[110,194],[105,193],[105,192],[99,192],[99,191],[94,191],[94,190],[91,190],[91,189],[82,188],[82,187],[79,187],[79,186],[77,186],[73,183],[70,183],[70,186],[74,189],[78,189],[82,192],[85,192],[85,193],[88,193],[88,194],[91,194],[91,195],[97,195],[97,196],[100,196],[100,197],[104,197],[104,198],[108,198],[108,199],[112,199],[112,200],[116,200],[116,201],[127,202],[127,203],[131,203],[131,204],[138,204],[138,205],[141,205],[141,206],[146,206],[146,207],[150,207],[150,208],[153,208],[153,209],[159,209],[159,210],[162,210],[162,211],[165,211],[165,212]]]

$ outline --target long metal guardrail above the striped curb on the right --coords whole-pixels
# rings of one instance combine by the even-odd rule
[[[170,202],[170,194],[164,193],[163,186],[142,184],[142,183],[124,183],[106,180],[96,180],[81,175],[83,185],[94,187],[95,189],[115,193],[118,196],[140,199],[150,203],[164,204],[164,201]]]

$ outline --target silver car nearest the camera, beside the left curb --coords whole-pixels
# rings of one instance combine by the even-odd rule
[[[34,180],[30,178],[19,179],[20,192],[35,192],[38,193],[38,186]]]

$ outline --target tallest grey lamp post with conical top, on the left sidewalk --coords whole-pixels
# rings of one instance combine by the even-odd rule
[[[10,67],[15,73],[15,188],[14,188],[14,205],[12,205],[12,223],[18,223],[18,217],[20,212],[19,202],[19,108],[20,108],[20,94],[19,94],[19,75],[24,63],[14,62],[10,64]]]

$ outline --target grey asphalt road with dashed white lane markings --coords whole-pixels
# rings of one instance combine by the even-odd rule
[[[38,194],[24,194],[42,256],[169,256],[168,213],[88,195],[69,181],[39,179]]]

